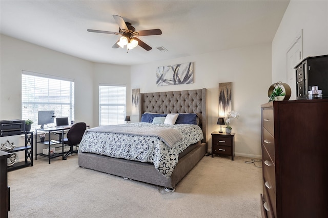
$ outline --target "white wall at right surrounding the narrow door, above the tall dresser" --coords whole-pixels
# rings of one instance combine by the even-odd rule
[[[290,2],[272,41],[272,83],[286,82],[286,53],[302,29],[303,58],[327,55],[328,1]]]

